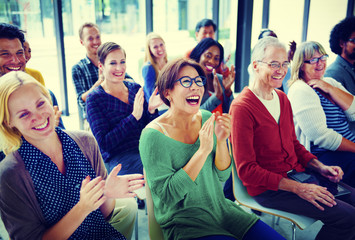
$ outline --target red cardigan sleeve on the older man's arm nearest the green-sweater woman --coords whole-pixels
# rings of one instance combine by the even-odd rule
[[[254,150],[254,119],[241,104],[232,103],[231,145],[237,172],[243,184],[278,190],[282,175],[262,168]],[[249,193],[250,194],[250,193]]]

